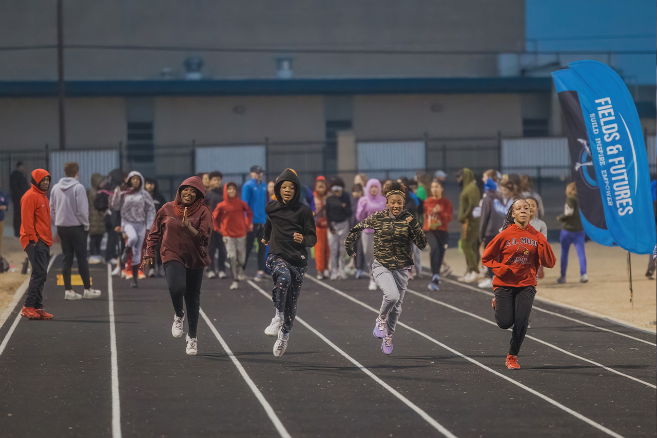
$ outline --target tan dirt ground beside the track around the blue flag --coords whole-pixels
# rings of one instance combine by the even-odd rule
[[[629,301],[627,276],[627,252],[620,248],[609,248],[595,242],[586,243],[587,271],[589,282],[579,283],[579,262],[574,248],[570,248],[566,284],[556,284],[560,270],[560,247],[552,244],[556,265],[545,270],[545,278],[539,280],[537,298],[577,307],[619,322],[629,323],[644,330],[657,331],[657,286],[655,280],[645,276],[648,255],[631,255],[633,303]],[[428,263],[428,250],[422,253],[422,264]],[[465,258],[457,248],[447,250],[445,260],[458,276],[465,272]],[[471,283],[476,286],[476,282]]]

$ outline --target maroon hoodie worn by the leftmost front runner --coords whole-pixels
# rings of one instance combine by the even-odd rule
[[[178,187],[173,202],[181,202],[180,192],[185,186],[196,188],[197,196],[204,198],[205,187],[201,179],[191,177]],[[193,237],[183,227],[183,219],[175,214],[173,202],[164,204],[155,215],[155,221],[148,233],[145,257],[154,257],[155,247],[161,241],[162,263],[175,260],[191,269],[202,269],[210,265],[208,244],[212,232],[212,212],[207,206],[201,206],[196,213],[189,216],[189,223],[198,230],[198,234]]]

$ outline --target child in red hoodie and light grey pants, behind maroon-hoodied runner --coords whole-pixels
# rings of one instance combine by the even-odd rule
[[[231,262],[233,284],[231,290],[244,280],[246,263],[246,232],[253,230],[253,212],[246,202],[237,198],[237,185],[227,183],[223,186],[223,201],[214,209],[214,229],[223,235],[223,244]]]

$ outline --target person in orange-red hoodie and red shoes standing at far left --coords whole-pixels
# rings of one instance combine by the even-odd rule
[[[43,310],[43,285],[48,274],[53,231],[50,226],[50,203],[45,196],[50,187],[50,174],[44,169],[32,171],[32,186],[20,198],[20,244],[32,264],[30,284],[20,315],[29,319],[52,319]]]

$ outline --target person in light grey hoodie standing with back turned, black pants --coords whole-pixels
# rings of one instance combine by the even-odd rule
[[[64,299],[97,298],[101,291],[91,288],[87,261],[87,235],[89,234],[89,200],[87,191],[78,181],[79,165],[64,164],[64,177],[55,184],[50,194],[51,219],[57,227],[62,245],[62,277]],[[78,294],[71,284],[73,256],[78,259],[78,271],[84,284],[84,294]]]

